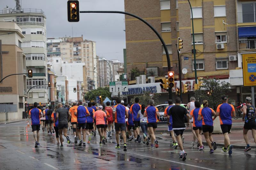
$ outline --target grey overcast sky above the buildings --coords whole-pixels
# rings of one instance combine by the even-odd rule
[[[42,9],[46,15],[47,38],[81,36],[96,41],[96,54],[124,61],[125,25],[123,14],[80,13],[80,21],[68,22],[67,0],[20,0],[21,8]],[[0,9],[16,6],[15,0],[0,0]],[[80,0],[80,11],[124,11],[124,0]]]

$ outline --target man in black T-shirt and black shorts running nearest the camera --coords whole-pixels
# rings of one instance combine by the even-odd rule
[[[182,160],[186,160],[187,153],[183,150],[183,144],[181,140],[181,136],[186,129],[184,124],[184,115],[187,116],[187,126],[189,126],[189,115],[186,108],[180,106],[181,100],[180,98],[175,99],[175,106],[169,109],[169,116],[172,116],[172,129],[176,134],[176,139],[178,141],[180,147],[180,157]]]

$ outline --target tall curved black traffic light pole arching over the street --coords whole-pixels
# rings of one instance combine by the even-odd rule
[[[171,61],[170,61],[170,56],[169,56],[169,52],[168,49],[164,43],[163,38],[160,36],[160,34],[156,31],[156,29],[151,26],[146,20],[138,17],[137,15],[128,13],[128,12],[124,12],[124,11],[79,11],[79,13],[119,13],[119,14],[125,14],[125,15],[129,15],[132,16],[134,18],[139,19],[140,21],[144,22],[149,28],[152,29],[152,31],[154,31],[154,33],[157,35],[157,37],[159,38],[159,40],[161,41],[163,47],[164,47],[164,51],[166,54],[166,59],[167,59],[167,66],[168,66],[168,71],[171,71]],[[172,99],[172,88],[168,88],[169,91],[169,99]]]

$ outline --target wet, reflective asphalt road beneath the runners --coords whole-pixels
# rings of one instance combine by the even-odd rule
[[[54,135],[40,130],[40,145],[35,148],[31,127],[27,122],[0,125],[0,169],[255,169],[255,150],[244,153],[233,149],[231,156],[218,148],[208,154],[209,148],[197,151],[186,142],[187,160],[178,158],[179,148],[170,147],[170,137],[158,134],[159,148],[153,150],[147,145],[127,142],[127,152],[115,149],[115,136],[108,143],[99,146],[99,135],[92,137],[91,144],[76,146],[70,131],[71,144],[64,141],[64,148],[56,145]],[[188,139],[187,139],[188,140]],[[188,140],[190,141],[190,140]]]

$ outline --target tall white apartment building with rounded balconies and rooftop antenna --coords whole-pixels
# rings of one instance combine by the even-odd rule
[[[47,64],[46,64],[46,16],[41,9],[11,8],[0,10],[0,20],[16,22],[22,29],[25,38],[22,39],[21,48],[26,55],[26,70],[33,70],[33,78],[27,78],[27,89],[36,86],[28,92],[27,102],[41,102],[46,106],[47,95]]]

